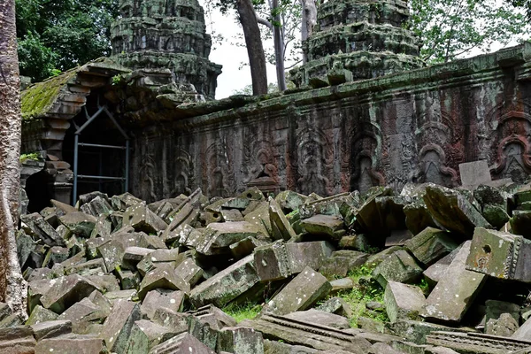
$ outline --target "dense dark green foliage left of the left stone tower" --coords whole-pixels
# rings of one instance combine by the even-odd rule
[[[111,54],[118,0],[16,0],[20,73],[34,81]]]

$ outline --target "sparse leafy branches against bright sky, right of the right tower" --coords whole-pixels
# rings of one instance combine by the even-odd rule
[[[473,50],[489,52],[494,42],[528,35],[526,16],[496,0],[412,0],[409,27],[422,41],[421,58],[443,63]]]

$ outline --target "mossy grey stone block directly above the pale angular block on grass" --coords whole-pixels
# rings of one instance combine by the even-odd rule
[[[417,261],[406,250],[396,250],[374,268],[373,278],[385,289],[388,281],[418,281],[422,271]]]

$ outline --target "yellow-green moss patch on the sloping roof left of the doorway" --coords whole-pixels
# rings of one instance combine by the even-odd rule
[[[75,77],[78,70],[79,68],[69,70],[22,91],[20,95],[22,120],[41,118],[46,114],[58,99],[61,89]]]

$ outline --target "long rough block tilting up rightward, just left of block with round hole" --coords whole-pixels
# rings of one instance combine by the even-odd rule
[[[214,304],[223,307],[258,283],[258,274],[252,255],[197,285],[190,292],[190,302],[201,307]]]

